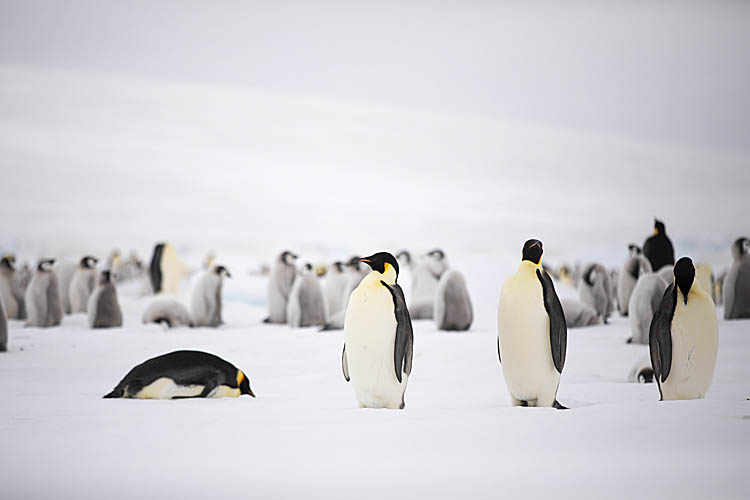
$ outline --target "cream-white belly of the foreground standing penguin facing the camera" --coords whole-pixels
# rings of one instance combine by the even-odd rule
[[[537,280],[536,275],[533,279]],[[560,374],[552,359],[549,316],[541,284],[523,281],[506,284],[513,287],[513,293],[501,292],[498,339],[503,377],[515,399],[552,406]]]

